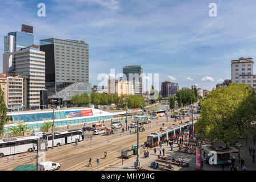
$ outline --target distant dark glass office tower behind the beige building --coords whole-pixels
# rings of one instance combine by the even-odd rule
[[[141,65],[128,65],[123,67],[123,77],[134,84],[134,94],[141,95],[143,92],[142,73],[143,69]]]

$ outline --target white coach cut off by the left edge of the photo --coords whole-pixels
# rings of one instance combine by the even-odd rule
[[[38,136],[0,140],[0,158],[6,155],[31,152],[33,151],[33,146],[37,150],[37,139],[39,139]]]

